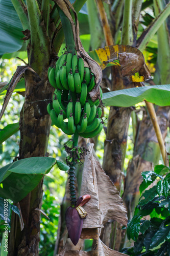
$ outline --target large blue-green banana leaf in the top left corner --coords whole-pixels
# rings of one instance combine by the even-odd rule
[[[10,0],[0,1],[0,56],[21,49],[22,25]]]

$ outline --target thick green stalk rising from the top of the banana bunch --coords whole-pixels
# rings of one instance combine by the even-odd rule
[[[68,52],[71,52],[72,55],[75,54],[75,40],[74,35],[72,33],[72,27],[69,22],[69,19],[65,16],[64,12],[57,6],[57,10],[59,12],[62,27],[64,30],[64,37],[65,37],[65,46]]]

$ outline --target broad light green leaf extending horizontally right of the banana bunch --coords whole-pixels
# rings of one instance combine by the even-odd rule
[[[170,105],[170,84],[161,86],[137,87],[103,94],[105,106],[129,107],[143,100],[159,106]]]

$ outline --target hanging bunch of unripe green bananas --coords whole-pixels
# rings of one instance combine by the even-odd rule
[[[103,129],[100,101],[93,102],[89,92],[95,86],[95,76],[84,67],[84,60],[77,55],[64,53],[54,68],[48,69],[48,79],[56,89],[53,102],[47,105],[53,124],[65,134],[78,132],[92,138]],[[102,89],[101,98],[102,98]]]

